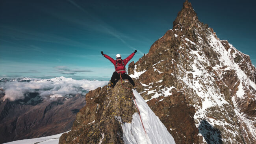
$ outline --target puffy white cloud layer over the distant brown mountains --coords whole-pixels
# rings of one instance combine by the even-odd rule
[[[26,78],[28,80],[30,78]],[[9,99],[15,101],[24,99],[24,94],[28,92],[38,92],[39,96],[46,97],[51,95],[69,96],[74,94],[86,94],[88,90],[102,87],[108,81],[74,80],[72,78],[53,78],[53,79],[30,79],[30,82],[7,81],[0,82],[0,88],[4,89],[2,100]]]

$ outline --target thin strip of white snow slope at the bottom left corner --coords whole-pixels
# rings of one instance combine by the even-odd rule
[[[69,131],[67,131],[69,132]],[[65,132],[65,133],[67,133]],[[51,135],[48,137],[39,137],[39,138],[32,138],[32,139],[27,139],[27,140],[17,140],[13,142],[7,142],[4,144],[58,144],[59,143],[59,137],[63,133],[57,134],[57,135]]]

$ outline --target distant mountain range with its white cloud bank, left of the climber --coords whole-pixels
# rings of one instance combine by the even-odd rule
[[[84,95],[106,83],[65,77],[4,79],[0,82],[0,143],[70,130],[85,105]]]

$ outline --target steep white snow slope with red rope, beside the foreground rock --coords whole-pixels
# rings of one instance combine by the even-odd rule
[[[133,90],[145,131],[141,124],[139,114],[132,116],[131,123],[122,124],[125,144],[175,144],[174,138],[160,121],[158,116],[148,107],[141,95]]]

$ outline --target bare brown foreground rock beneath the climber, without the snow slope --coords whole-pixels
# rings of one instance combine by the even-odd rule
[[[122,122],[131,122],[137,112],[132,101],[132,86],[119,81],[114,89],[98,88],[86,94],[86,105],[76,115],[72,130],[64,133],[59,144],[123,144]]]

